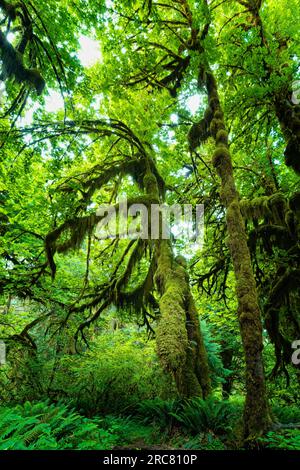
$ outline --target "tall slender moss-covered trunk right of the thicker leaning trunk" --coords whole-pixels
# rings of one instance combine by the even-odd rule
[[[215,141],[212,163],[221,180],[221,199],[226,207],[228,245],[236,279],[238,319],[246,361],[247,392],[244,435],[245,438],[251,438],[263,433],[270,425],[262,359],[261,315],[245,224],[233,175],[228,133],[225,128],[217,83],[208,64],[201,67],[199,79],[208,93],[209,107],[205,116],[205,125],[206,127],[209,125],[209,135]],[[202,140],[202,136],[199,135],[198,143]]]

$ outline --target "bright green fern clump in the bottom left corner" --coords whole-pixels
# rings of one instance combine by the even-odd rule
[[[64,404],[0,408],[1,450],[111,449],[118,437]]]

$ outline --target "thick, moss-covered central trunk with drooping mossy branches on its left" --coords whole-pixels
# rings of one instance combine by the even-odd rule
[[[144,177],[146,193],[159,203],[154,174]],[[155,283],[160,294],[160,318],[156,328],[158,355],[183,397],[207,397],[211,391],[207,354],[198,313],[190,290],[184,260],[175,258],[171,241],[155,242],[157,269]]]

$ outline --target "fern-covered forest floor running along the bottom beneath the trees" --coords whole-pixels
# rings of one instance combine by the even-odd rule
[[[300,450],[299,407],[273,407],[273,415],[283,428],[253,448]],[[84,414],[61,401],[0,405],[0,450],[237,450],[241,418],[240,402],[214,398],[148,400],[127,416]]]

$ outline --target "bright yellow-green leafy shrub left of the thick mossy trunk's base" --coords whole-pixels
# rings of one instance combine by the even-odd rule
[[[64,356],[53,389],[63,390],[88,416],[119,414],[141,400],[175,393],[153,342],[132,331],[103,334],[82,356]]]

